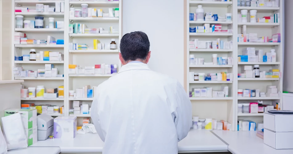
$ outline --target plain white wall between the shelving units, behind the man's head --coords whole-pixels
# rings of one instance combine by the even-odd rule
[[[184,2],[123,0],[122,35],[143,31],[151,43],[153,71],[175,77],[184,85]]]

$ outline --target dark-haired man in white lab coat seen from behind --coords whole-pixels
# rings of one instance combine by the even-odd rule
[[[177,154],[192,125],[187,93],[176,79],[151,71],[149,50],[145,33],[125,34],[123,66],[97,87],[91,118],[105,142],[103,154]]]

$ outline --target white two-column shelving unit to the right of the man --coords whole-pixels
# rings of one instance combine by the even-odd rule
[[[263,113],[244,114],[237,113],[237,103],[257,102],[262,100],[264,104],[273,104],[278,102],[282,109],[282,93],[279,97],[237,97],[238,89],[260,89],[266,92],[267,85],[277,86],[279,91],[283,89],[283,78],[237,78],[237,74],[241,73],[241,67],[244,65],[259,65],[261,71],[269,71],[270,69],[283,70],[283,1],[280,1],[279,7],[241,7],[237,6],[237,0],[231,2],[219,1],[197,1],[187,0],[187,91],[192,88],[213,87],[213,90],[220,90],[221,86],[229,87],[229,97],[226,98],[190,98],[192,102],[193,115],[204,118],[214,118],[217,120],[227,120],[232,124],[232,130],[237,130],[237,120],[253,120],[257,123],[263,121]],[[189,13],[195,13],[197,6],[202,5],[204,12],[212,12],[218,16],[225,16],[226,13],[232,13],[232,21],[189,21]],[[248,22],[238,22],[237,14],[242,9],[248,10]],[[249,10],[257,10],[257,18],[269,16],[276,12],[280,13],[279,23],[251,23],[249,20]],[[233,34],[227,33],[189,33],[190,26],[202,26],[204,23],[221,24],[223,29],[233,29]],[[281,34],[281,43],[254,43],[254,42],[237,42],[237,34],[241,34],[241,26],[247,26],[247,33],[257,33],[258,37],[268,36],[272,34]],[[212,41],[220,38],[221,40],[233,41],[233,49],[189,49],[189,41],[199,39],[203,41]],[[256,50],[262,49],[264,52],[270,52],[275,49],[277,53],[277,62],[237,62],[237,56],[241,55],[242,48],[255,47]],[[218,57],[233,57],[232,66],[205,66],[205,65],[189,65],[189,55],[195,55],[195,58],[204,58],[206,62],[212,62],[212,54],[218,54]],[[217,73],[227,71],[233,73],[233,81],[189,81],[189,72],[196,73]],[[282,72],[283,74],[283,72]]]

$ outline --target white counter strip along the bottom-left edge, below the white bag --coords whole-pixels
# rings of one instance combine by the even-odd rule
[[[22,149],[8,150],[7,154],[59,154],[59,147],[28,147]]]

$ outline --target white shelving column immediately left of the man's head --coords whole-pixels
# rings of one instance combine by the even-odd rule
[[[119,33],[113,34],[72,34],[68,33],[68,27],[65,27],[65,44],[67,43],[83,43],[89,46],[89,50],[69,50],[68,46],[64,47],[64,50],[68,55],[64,56],[64,66],[66,67],[66,97],[67,115],[68,109],[72,108],[74,100],[82,101],[83,104],[91,103],[94,98],[69,98],[69,90],[76,90],[77,88],[82,88],[86,85],[90,85],[91,88],[98,86],[109,77],[114,76],[113,74],[68,74],[68,64],[79,65],[83,69],[85,66],[94,66],[95,64],[117,64],[118,70],[121,67],[121,62],[119,60],[119,44],[122,37],[122,0],[119,1],[66,1],[65,6],[65,25],[81,23],[87,25],[88,28],[100,28],[103,27],[108,30],[110,26],[114,29],[119,29]],[[81,4],[88,4],[88,8],[103,9],[104,13],[108,13],[108,8],[119,8],[120,17],[69,17],[70,7],[75,9],[80,9]],[[93,50],[93,39],[100,40],[101,43],[111,43],[111,39],[116,39],[117,49],[116,50]],[[118,71],[117,70],[117,71]],[[90,117],[90,114],[70,114],[69,116],[77,116],[78,123],[82,118],[79,117]]]

